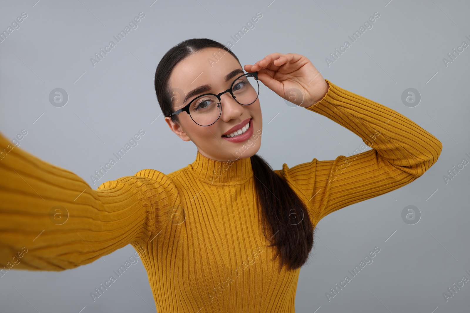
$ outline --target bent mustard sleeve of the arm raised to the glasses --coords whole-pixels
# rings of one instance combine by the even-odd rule
[[[314,225],[345,206],[411,183],[439,158],[441,142],[407,117],[329,82],[326,95],[306,109],[362,138],[351,156],[276,170],[307,204]],[[366,146],[371,150],[365,150]]]

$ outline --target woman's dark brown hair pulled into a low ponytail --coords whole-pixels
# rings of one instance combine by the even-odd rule
[[[173,68],[189,55],[210,47],[224,49],[240,63],[229,48],[208,38],[184,40],[168,50],[160,60],[155,72],[155,92],[164,116],[173,112],[172,92],[168,83]],[[172,121],[178,123],[177,116],[172,116]],[[263,233],[271,243],[269,246],[277,247],[274,259],[280,256],[281,267],[286,265],[288,269],[297,269],[305,264],[313,247],[314,229],[307,208],[266,160],[257,154],[252,155],[250,160]]]

